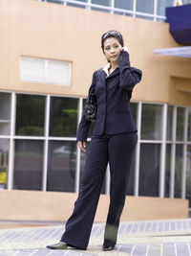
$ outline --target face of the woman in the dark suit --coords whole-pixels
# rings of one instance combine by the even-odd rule
[[[103,53],[111,62],[117,62],[122,46],[116,37],[109,37],[104,41]]]

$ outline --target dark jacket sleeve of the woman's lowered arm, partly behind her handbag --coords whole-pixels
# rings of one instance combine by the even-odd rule
[[[94,92],[95,83],[96,83],[96,72],[93,74],[93,80],[92,80],[92,84],[89,88],[88,96]],[[87,121],[85,119],[84,111],[83,111],[82,116],[81,116],[81,121],[77,128],[76,142],[77,141],[85,141],[85,142],[87,141],[88,131],[89,131],[91,124],[92,124],[91,121]]]

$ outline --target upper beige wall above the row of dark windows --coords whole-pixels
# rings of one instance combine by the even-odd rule
[[[85,96],[93,71],[106,64],[100,36],[115,29],[124,36],[132,66],[143,71],[133,100],[191,105],[191,59],[153,54],[178,46],[167,23],[37,0],[1,0],[0,17],[0,90]],[[71,86],[21,82],[21,56],[72,61]]]

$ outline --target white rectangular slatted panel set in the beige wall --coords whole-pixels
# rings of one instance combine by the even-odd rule
[[[28,82],[70,85],[71,62],[22,57],[20,79]]]

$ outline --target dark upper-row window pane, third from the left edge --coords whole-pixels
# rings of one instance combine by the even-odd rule
[[[52,97],[50,136],[76,136],[77,99]]]

